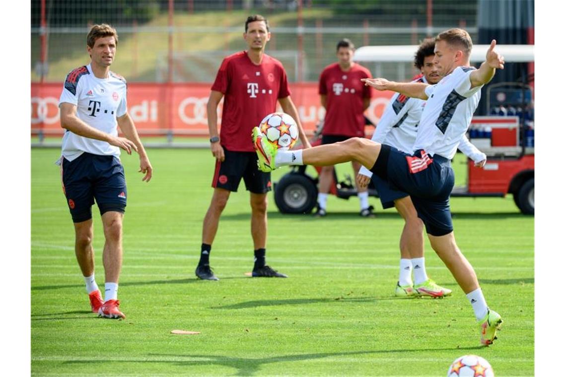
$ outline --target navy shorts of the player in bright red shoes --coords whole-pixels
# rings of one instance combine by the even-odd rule
[[[86,152],[73,161],[63,158],[61,177],[74,223],[92,218],[95,200],[100,215],[126,210],[126,178],[118,158]]]

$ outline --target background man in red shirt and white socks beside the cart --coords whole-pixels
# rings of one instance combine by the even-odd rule
[[[370,106],[371,88],[361,79],[369,79],[367,68],[354,63],[354,44],[349,39],[342,39],[336,45],[337,63],[332,63],[320,73],[320,102],[326,115],[322,129],[322,144],[333,144],[350,137],[364,137],[366,119],[363,112]],[[361,165],[352,161],[354,174],[358,174]],[[319,175],[318,206],[315,216],[326,215],[327,198],[333,179],[333,166],[323,166]],[[375,217],[374,207],[368,202],[367,187],[358,190],[360,215]]]

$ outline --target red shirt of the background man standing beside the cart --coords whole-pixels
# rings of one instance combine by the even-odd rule
[[[324,68],[319,80],[319,94],[326,96],[323,135],[365,135],[363,99],[371,98],[371,88],[361,79],[370,77],[370,71],[357,63],[347,72],[338,63]]]

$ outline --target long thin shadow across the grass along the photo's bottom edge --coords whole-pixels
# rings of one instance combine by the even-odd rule
[[[169,365],[177,365],[181,367],[190,366],[224,366],[234,368],[233,375],[237,376],[252,376],[256,373],[260,373],[260,369],[263,365],[278,363],[278,362],[296,362],[296,361],[306,361],[315,360],[325,357],[339,357],[339,356],[354,356],[354,355],[379,355],[379,354],[402,354],[411,352],[423,352],[423,351],[452,351],[452,350],[478,350],[484,348],[483,346],[474,347],[453,347],[453,348],[429,348],[429,349],[392,349],[392,350],[364,350],[364,351],[353,351],[353,352],[324,352],[324,353],[306,353],[306,354],[294,354],[294,355],[284,355],[284,356],[274,356],[265,358],[244,358],[244,357],[228,357],[228,356],[215,356],[215,355],[204,355],[204,354],[160,354],[160,353],[150,353],[148,357],[175,357],[175,358],[191,358],[187,361],[182,360],[146,360],[140,361],[139,359],[132,360],[122,360],[122,362],[131,363],[164,363]],[[194,360],[194,359],[197,360]],[[200,359],[200,360],[199,360]],[[76,364],[76,363],[106,363],[105,360],[73,360],[66,361],[65,364]]]

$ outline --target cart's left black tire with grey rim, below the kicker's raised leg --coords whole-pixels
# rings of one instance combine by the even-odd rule
[[[275,185],[275,204],[281,213],[311,213],[317,195],[314,181],[302,174],[286,174]]]

